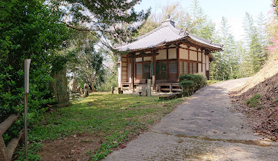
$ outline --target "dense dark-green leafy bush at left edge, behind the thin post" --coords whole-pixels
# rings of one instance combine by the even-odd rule
[[[42,1],[0,1],[0,10],[0,122],[13,113],[23,113],[23,62],[32,59],[28,94],[28,124],[32,125],[46,105],[55,101],[49,88],[51,70],[61,59],[54,54],[66,46],[70,30]],[[23,117],[10,126],[3,137],[5,142],[17,136],[22,121]]]

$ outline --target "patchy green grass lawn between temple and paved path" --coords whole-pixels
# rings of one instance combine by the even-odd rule
[[[56,108],[33,126],[28,133],[31,143],[28,157],[38,160],[40,157],[36,153],[46,140],[63,140],[85,133],[101,141],[96,149],[86,151],[90,160],[99,160],[119,144],[147,131],[150,124],[170,113],[174,105],[181,104],[182,100],[161,101],[154,96],[108,93],[93,93],[89,97],[76,99],[72,101],[72,106]],[[17,154],[22,156],[24,151]]]

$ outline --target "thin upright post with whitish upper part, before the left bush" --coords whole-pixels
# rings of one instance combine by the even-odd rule
[[[31,59],[24,60],[24,136],[25,136],[25,159],[27,160],[27,108],[28,100],[27,93],[29,93],[29,68],[30,68]]]

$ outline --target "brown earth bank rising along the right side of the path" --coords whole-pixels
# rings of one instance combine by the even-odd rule
[[[278,140],[278,58],[268,61],[243,86],[230,91],[230,95],[236,109],[250,118],[256,134]]]

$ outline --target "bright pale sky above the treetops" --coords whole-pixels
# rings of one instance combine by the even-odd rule
[[[152,7],[152,12],[154,12],[155,6],[166,6],[175,1],[177,0],[142,0],[135,9],[147,10],[147,8]],[[186,11],[189,11],[192,0],[179,0],[179,3]],[[243,39],[242,26],[245,12],[249,12],[254,19],[258,17],[260,12],[268,17],[271,3],[272,0],[199,0],[204,13],[216,23],[216,28],[218,28],[222,17],[228,19],[236,40]],[[161,11],[157,10],[156,12]]]

